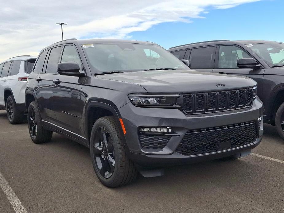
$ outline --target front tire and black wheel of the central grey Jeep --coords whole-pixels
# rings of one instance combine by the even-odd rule
[[[99,118],[91,131],[93,167],[101,183],[110,188],[135,180],[137,169],[125,153],[123,135],[113,116]]]

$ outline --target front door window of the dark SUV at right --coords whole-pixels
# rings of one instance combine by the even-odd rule
[[[237,60],[241,58],[251,58],[251,56],[236,46],[220,46],[218,67],[238,68]]]

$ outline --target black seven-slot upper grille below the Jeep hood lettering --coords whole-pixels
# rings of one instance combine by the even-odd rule
[[[250,107],[252,101],[252,88],[182,95],[183,110],[187,114]]]

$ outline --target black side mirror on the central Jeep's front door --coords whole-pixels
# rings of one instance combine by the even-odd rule
[[[61,62],[57,65],[57,72],[64,76],[86,76],[85,73],[80,72],[79,64],[74,61]]]

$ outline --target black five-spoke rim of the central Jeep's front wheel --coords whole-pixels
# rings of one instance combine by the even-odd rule
[[[103,127],[95,132],[96,140],[93,145],[95,165],[101,176],[110,178],[115,169],[115,152],[110,134]]]

